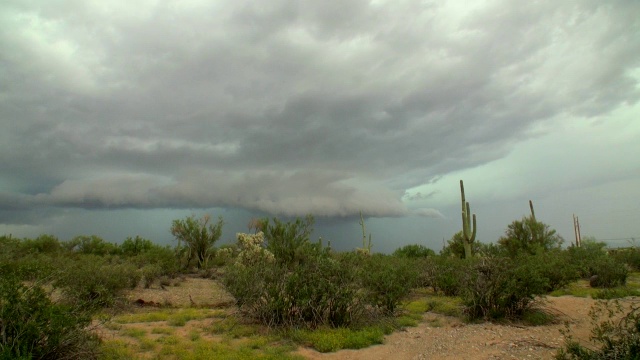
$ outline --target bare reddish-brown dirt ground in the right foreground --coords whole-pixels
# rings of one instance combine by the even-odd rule
[[[588,341],[590,323],[589,298],[572,296],[549,297],[545,308],[571,323],[574,337]],[[440,327],[432,327],[439,318]],[[560,329],[564,324],[521,327],[491,323],[464,324],[460,320],[428,313],[418,327],[393,333],[382,345],[362,350],[341,350],[322,354],[312,349],[301,349],[299,354],[308,359],[552,359],[563,345]]]

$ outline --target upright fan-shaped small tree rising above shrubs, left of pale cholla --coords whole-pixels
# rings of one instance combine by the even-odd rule
[[[211,216],[204,215],[196,219],[195,215],[186,217],[183,220],[173,220],[171,234],[178,240],[178,247],[182,241],[187,247],[187,266],[195,257],[198,260],[197,267],[201,269],[207,263],[213,244],[222,235],[224,221],[222,216],[218,221],[211,223]]]

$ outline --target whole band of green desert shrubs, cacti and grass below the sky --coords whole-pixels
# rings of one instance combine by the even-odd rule
[[[539,325],[553,321],[540,314],[539,299],[565,294],[604,299],[593,311],[601,347],[587,348],[567,333],[558,358],[638,353],[637,308],[607,300],[638,295],[627,279],[640,270],[640,249],[608,251],[595,239],[563,248],[533,206],[495,243],[481,243],[462,183],[461,191],[462,230],[439,254],[420,244],[372,253],[362,218],[363,248],[341,252],[310,238],[312,216],[255,220],[252,233],[220,248],[224,221],[209,216],[173,221],[175,246],[137,236],[120,244],[93,235],[1,236],[0,358],[296,358],[301,345],[335,351],[381,343],[385,334],[423,321],[427,311]],[[125,297],[134,288],[179,286],[185,277],[210,279],[233,300],[207,305],[190,297],[185,307],[139,299],[138,306],[153,306],[149,311]],[[590,290],[578,293],[577,283]],[[129,327],[133,322],[153,326]],[[175,329],[188,323],[179,336]],[[227,340],[212,341],[216,334]]]

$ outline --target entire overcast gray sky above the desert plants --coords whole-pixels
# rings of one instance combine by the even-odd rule
[[[373,251],[529,214],[640,245],[640,2],[0,3],[0,234],[313,214]],[[326,240],[325,240],[326,241]]]

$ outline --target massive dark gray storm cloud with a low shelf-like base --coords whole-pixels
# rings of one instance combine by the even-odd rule
[[[638,3],[467,6],[7,1],[0,222],[16,207],[404,216],[406,189],[640,97]]]

